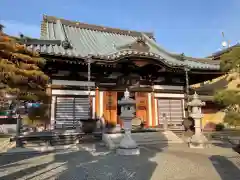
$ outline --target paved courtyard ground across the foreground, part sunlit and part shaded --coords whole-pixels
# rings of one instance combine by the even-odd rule
[[[99,144],[45,155],[0,156],[0,180],[239,180],[240,156],[228,147],[146,145],[118,156]]]

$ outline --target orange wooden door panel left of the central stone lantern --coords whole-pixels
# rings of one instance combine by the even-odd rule
[[[104,91],[103,116],[107,122],[117,124],[117,92]]]

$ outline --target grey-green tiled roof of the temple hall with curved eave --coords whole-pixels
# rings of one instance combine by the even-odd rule
[[[53,16],[43,17],[41,40],[27,46],[55,56],[85,58],[91,55],[106,62],[137,56],[155,59],[171,67],[220,69],[211,59],[201,60],[166,51],[156,43],[153,33],[89,25]]]

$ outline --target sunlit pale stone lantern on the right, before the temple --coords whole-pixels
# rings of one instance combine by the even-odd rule
[[[202,102],[198,94],[195,92],[193,95],[192,101],[187,103],[187,105],[191,108],[190,117],[193,118],[195,124],[195,134],[190,138],[189,147],[190,148],[204,148],[204,144],[207,139],[202,134],[201,129],[201,120],[203,118],[202,114],[202,106],[205,106],[205,102]]]

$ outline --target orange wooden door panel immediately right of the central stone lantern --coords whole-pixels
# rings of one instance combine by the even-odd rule
[[[136,92],[136,116],[148,124],[148,96],[145,92]]]

